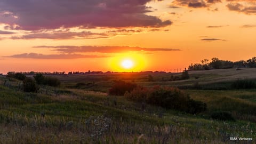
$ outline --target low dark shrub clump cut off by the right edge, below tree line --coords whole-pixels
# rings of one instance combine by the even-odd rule
[[[237,79],[237,81],[231,84],[234,89],[254,89],[256,84],[251,79]]]

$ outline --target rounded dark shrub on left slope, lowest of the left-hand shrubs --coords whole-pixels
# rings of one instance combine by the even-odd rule
[[[23,80],[23,90],[25,92],[38,92],[39,87],[33,78],[27,77]]]

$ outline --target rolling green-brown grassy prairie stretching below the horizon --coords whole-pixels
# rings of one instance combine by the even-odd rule
[[[40,86],[38,93],[25,93],[21,81],[0,76],[0,143],[256,143],[256,90],[229,89],[238,78],[256,78],[255,72],[189,71],[189,79],[173,82],[166,79],[180,74],[52,75],[61,86]],[[118,80],[185,87],[207,110],[191,115],[150,105],[142,109],[141,103],[107,94]],[[195,83],[203,88],[194,89]],[[213,120],[211,114],[220,110],[236,121]]]

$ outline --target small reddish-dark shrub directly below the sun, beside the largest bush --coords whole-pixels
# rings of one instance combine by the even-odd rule
[[[111,95],[124,95],[124,93],[131,92],[137,84],[124,82],[124,81],[116,81],[115,84],[109,89],[109,94]]]

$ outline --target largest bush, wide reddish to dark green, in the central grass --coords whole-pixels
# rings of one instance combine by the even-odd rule
[[[138,86],[131,92],[125,93],[125,98],[135,102],[146,102],[150,105],[167,109],[176,109],[190,114],[197,114],[206,110],[206,104],[190,99],[176,87],[154,86],[145,88]]]

